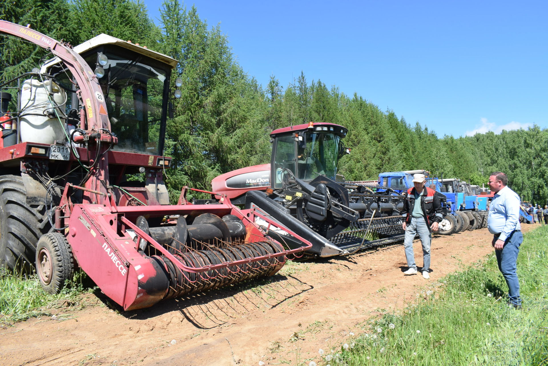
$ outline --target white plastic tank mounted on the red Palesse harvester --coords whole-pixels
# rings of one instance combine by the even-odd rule
[[[49,98],[53,101],[51,104],[48,93],[51,90],[53,95]],[[25,80],[21,89],[21,115],[32,113],[41,116],[25,116],[21,118],[21,142],[40,142],[42,144],[55,144],[55,140],[62,139],[65,136],[65,120],[61,123],[57,117],[49,118],[54,113],[54,107],[60,116],[65,116],[65,104],[67,95],[65,90],[50,80],[43,83],[37,79]],[[43,116],[42,116],[43,115]]]

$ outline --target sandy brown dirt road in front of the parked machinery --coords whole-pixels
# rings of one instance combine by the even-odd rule
[[[533,225],[522,225],[523,231]],[[360,325],[436,290],[438,279],[493,253],[487,229],[432,240],[432,272],[403,276],[403,246],[292,262],[266,281],[119,312],[95,294],[82,310],[0,329],[0,365],[266,365],[318,361]],[[415,242],[422,265],[420,242]]]

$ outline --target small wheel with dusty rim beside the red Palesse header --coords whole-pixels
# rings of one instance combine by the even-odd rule
[[[65,281],[72,279],[76,261],[64,235],[44,234],[36,246],[36,272],[44,291],[58,294]]]

